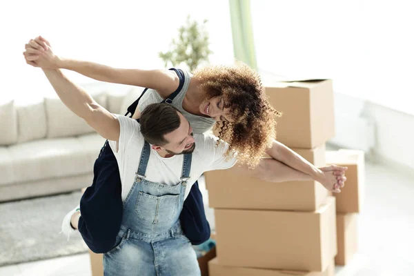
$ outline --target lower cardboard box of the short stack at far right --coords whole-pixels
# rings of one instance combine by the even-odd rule
[[[337,214],[337,248],[335,264],[346,266],[357,252],[357,215]]]

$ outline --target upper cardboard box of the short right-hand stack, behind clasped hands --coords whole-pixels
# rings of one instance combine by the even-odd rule
[[[326,164],[346,166],[346,182],[337,198],[337,213],[359,213],[364,198],[365,161],[362,150],[326,151]]]

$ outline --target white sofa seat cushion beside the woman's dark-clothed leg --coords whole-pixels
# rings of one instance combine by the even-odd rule
[[[8,150],[16,182],[79,175],[93,169],[91,149],[85,148],[77,137],[29,141]]]

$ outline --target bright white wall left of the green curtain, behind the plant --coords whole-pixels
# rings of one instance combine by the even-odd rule
[[[1,1],[0,98],[54,94],[41,70],[23,59],[25,43],[39,34],[61,57],[122,68],[164,68],[158,53],[168,50],[188,14],[197,21],[208,19],[210,62],[233,62],[228,1]],[[75,83],[91,81],[75,72],[66,75]]]

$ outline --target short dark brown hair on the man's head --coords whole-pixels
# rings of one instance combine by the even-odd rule
[[[164,135],[179,128],[179,110],[168,103],[152,103],[141,113],[141,133],[148,143],[164,146],[168,141]]]

